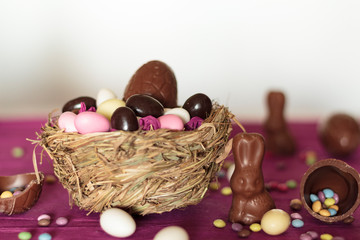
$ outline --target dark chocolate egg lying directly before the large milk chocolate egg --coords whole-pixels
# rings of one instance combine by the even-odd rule
[[[155,98],[144,94],[132,95],[126,101],[126,106],[131,108],[139,117],[151,115],[157,118],[164,114],[163,105]]]

